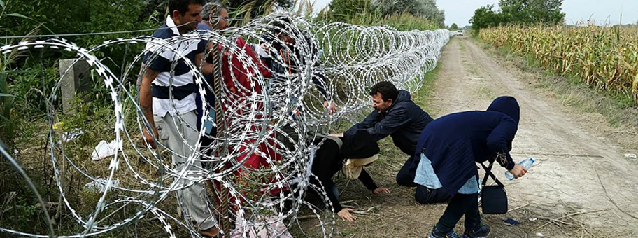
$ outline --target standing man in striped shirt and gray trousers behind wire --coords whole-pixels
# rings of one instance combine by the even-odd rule
[[[150,127],[144,127],[143,139],[148,146],[169,148],[178,187],[178,202],[187,221],[197,224],[199,233],[216,237],[217,221],[207,206],[206,190],[201,182],[201,161],[196,148],[199,132],[195,97],[199,88],[194,77],[200,72],[192,70],[187,61],[199,68],[206,43],[197,38],[171,38],[193,31],[201,21],[203,0],[169,0],[166,23],[155,31],[154,38],[164,39],[173,49],[158,43],[148,43],[143,59],[140,106]],[[183,55],[183,57],[182,57]],[[211,64],[205,64],[201,73],[208,75]],[[151,130],[152,129],[152,130]],[[156,141],[159,139],[159,141]],[[162,143],[158,143],[162,142]],[[186,179],[190,178],[190,179]]]

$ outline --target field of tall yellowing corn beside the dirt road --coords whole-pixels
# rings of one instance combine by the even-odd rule
[[[638,27],[511,25],[481,29],[479,36],[497,48],[531,55],[561,76],[574,75],[638,104]]]

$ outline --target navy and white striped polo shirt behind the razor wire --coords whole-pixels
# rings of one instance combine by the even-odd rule
[[[153,114],[162,117],[166,113],[176,116],[197,109],[195,97],[199,88],[194,83],[194,73],[198,72],[192,71],[185,63],[185,59],[179,55],[184,55],[194,64],[195,56],[206,50],[206,43],[197,38],[170,41],[169,39],[174,36],[180,36],[180,33],[175,22],[169,16],[162,28],[155,31],[153,38],[171,44],[177,52],[156,43],[147,43],[147,53],[143,59],[146,66],[160,72],[153,80],[151,89],[153,92]],[[150,60],[153,55],[156,57]],[[198,65],[195,66],[198,67]],[[173,69],[173,73],[171,73],[171,69]]]

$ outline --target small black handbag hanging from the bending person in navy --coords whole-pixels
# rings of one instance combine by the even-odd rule
[[[481,183],[483,187],[481,189],[481,209],[483,209],[483,214],[506,214],[507,194],[505,193],[505,186],[492,173],[492,165],[494,165],[494,161],[491,161],[490,166],[487,167],[481,163],[481,166],[485,169],[485,178],[483,178],[483,183]],[[485,186],[489,177],[492,177],[497,185]]]

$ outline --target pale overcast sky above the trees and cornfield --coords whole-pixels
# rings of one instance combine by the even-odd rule
[[[321,9],[332,0],[316,0],[315,8]],[[474,10],[488,4],[498,5],[498,0],[439,0],[437,6],[445,10],[446,25],[456,23],[459,27],[469,25],[468,20]],[[618,24],[623,13],[623,24],[636,23],[638,20],[638,0],[565,0],[562,11],[566,13],[565,22],[574,24],[579,21],[595,19],[598,24],[611,22]],[[607,19],[609,18],[609,19]]]

